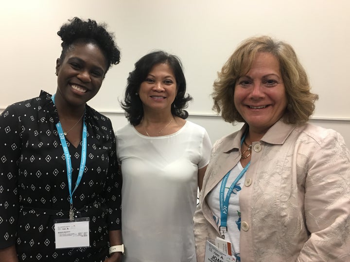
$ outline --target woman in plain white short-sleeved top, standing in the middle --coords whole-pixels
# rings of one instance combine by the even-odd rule
[[[195,262],[193,214],[211,143],[185,119],[192,98],[178,57],[140,58],[122,107],[129,125],[116,132],[123,173],[125,262]]]

